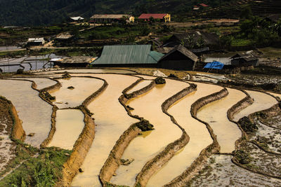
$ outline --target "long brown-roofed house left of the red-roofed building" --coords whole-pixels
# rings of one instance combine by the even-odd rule
[[[95,14],[90,18],[92,23],[114,23],[121,22],[122,20],[134,22],[135,18],[127,14]]]

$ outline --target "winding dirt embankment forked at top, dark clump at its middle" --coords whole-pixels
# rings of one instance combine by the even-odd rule
[[[126,88],[119,97],[119,102],[124,106],[124,109],[126,109],[129,116],[132,118],[137,118],[138,120],[143,120],[143,118],[139,116],[134,116],[129,107],[126,106],[126,102],[129,101],[129,99],[133,99],[135,97],[138,97],[139,95],[143,95],[145,92],[148,92],[152,88],[155,87],[155,81],[152,81],[149,85],[147,85],[145,88],[142,88],[141,90],[137,90],[135,92],[132,92],[131,94],[126,94],[128,90],[131,90],[134,86],[136,86],[140,81],[142,81],[143,78],[138,79],[135,83],[130,85],[128,88]],[[115,174],[116,170],[118,169],[119,165],[121,164],[120,159],[122,158],[122,155],[126,149],[127,146],[129,146],[130,142],[138,136],[139,133],[141,133],[141,129],[137,127],[138,123],[132,124],[117,140],[115,146],[112,148],[112,151],[110,152],[110,155],[108,156],[107,160],[105,161],[105,164],[103,165],[102,169],[100,169],[100,175],[99,179],[103,186],[107,186],[108,183],[110,183],[110,179],[112,178],[113,174]]]

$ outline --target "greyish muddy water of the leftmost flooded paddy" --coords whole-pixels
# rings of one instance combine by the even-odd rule
[[[35,133],[32,137],[27,136],[25,142],[39,146],[51,129],[53,106],[44,102],[31,85],[28,81],[0,80],[0,95],[11,100],[17,109],[26,134]]]

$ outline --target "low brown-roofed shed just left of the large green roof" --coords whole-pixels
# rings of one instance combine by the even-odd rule
[[[94,57],[77,56],[50,61],[53,62],[54,66],[58,65],[59,67],[86,67],[94,60],[96,60]]]

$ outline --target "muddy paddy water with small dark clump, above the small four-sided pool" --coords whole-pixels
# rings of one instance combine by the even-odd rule
[[[54,104],[60,109],[79,106],[103,85],[103,81],[97,78],[72,77],[70,79],[59,79],[58,81],[60,81],[62,87],[51,91],[50,94],[55,96]],[[69,89],[70,86],[74,89]]]

